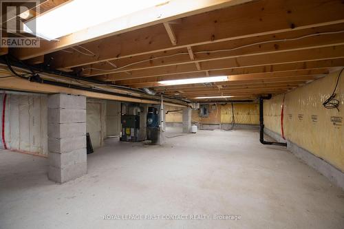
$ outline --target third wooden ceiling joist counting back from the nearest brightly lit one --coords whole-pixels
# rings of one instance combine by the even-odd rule
[[[200,45],[198,47],[194,47],[194,50],[197,52],[193,52],[191,47],[188,47],[188,52],[185,50],[173,50],[167,53],[158,53],[154,56],[143,55],[143,56],[135,56],[133,58],[121,58],[116,63],[117,68],[114,68],[110,65],[104,64],[94,64],[86,66],[92,68],[90,72],[85,72],[85,76],[95,76],[100,74],[111,74],[111,73],[118,73],[118,72],[130,72],[130,71],[138,71],[140,69],[149,69],[155,67],[169,67],[171,65],[182,65],[188,63],[194,63],[197,65],[198,63],[202,63],[204,61],[215,61],[221,60],[223,58],[235,58],[241,56],[255,56],[259,54],[273,54],[279,52],[290,52],[290,51],[297,51],[297,50],[305,50],[305,49],[312,49],[316,47],[326,47],[329,45],[336,45],[343,43],[343,36],[344,36],[344,24],[340,24],[337,28],[331,27],[331,30],[334,31],[342,31],[341,33],[336,34],[323,34],[317,36],[310,36],[304,39],[299,39],[296,41],[279,41],[279,42],[272,42],[272,43],[265,43],[261,45],[252,45],[257,42],[270,42],[270,41],[277,41],[276,38],[272,36],[259,36],[259,38],[250,38],[250,39],[241,39],[240,41],[236,41],[235,43],[216,43],[213,45]],[[327,32],[330,28],[324,27],[321,30],[316,30],[316,32]],[[292,32],[290,32],[292,33]],[[293,32],[295,35],[290,36],[293,38],[307,36],[310,34],[314,34],[314,30],[307,30],[307,31],[295,31]],[[282,39],[283,40],[283,39]],[[246,46],[252,45],[252,46]],[[246,47],[245,47],[246,46]],[[238,48],[241,47],[241,48]],[[237,50],[233,50],[236,49]],[[230,51],[222,51],[221,50],[230,50]],[[189,54],[188,54],[189,53]],[[196,54],[195,54],[196,53]],[[195,60],[195,55],[197,55],[197,60]],[[161,58],[162,56],[166,56],[166,58]],[[189,58],[190,56],[190,58]],[[191,58],[193,56],[193,58]],[[153,57],[153,58],[152,58]],[[137,64],[133,64],[137,63]],[[127,67],[126,67],[127,66]],[[76,68],[78,71],[79,68]],[[197,67],[197,70],[200,70]]]

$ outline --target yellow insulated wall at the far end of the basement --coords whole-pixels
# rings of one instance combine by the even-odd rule
[[[234,119],[237,124],[259,124],[259,105],[252,103],[235,103]],[[167,107],[167,111],[176,110],[176,107]],[[199,110],[192,111],[192,122],[201,124],[229,124],[232,122],[232,106],[226,105],[209,105],[209,117],[201,118]],[[176,111],[166,114],[166,122],[181,123],[182,111]]]

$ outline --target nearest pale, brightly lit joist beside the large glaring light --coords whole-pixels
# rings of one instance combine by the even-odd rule
[[[81,45],[92,41],[101,41],[102,39],[111,38],[124,32],[135,31],[140,28],[147,28],[156,24],[161,25],[161,23],[179,19],[180,17],[187,17],[207,12],[209,10],[235,6],[237,4],[250,1],[253,0],[205,0],[191,2],[184,0],[166,1],[165,4],[160,4],[158,6],[136,12],[135,14],[129,14],[125,17],[120,17],[118,19],[108,21],[107,23],[103,23],[103,30],[94,26],[92,28],[87,28],[73,34],[63,36],[58,39],[58,41],[42,41],[41,47],[34,50],[30,47],[13,50],[12,54],[21,60],[34,58],[36,56],[57,52],[58,50],[63,50],[75,45]],[[109,40],[110,39],[107,39],[107,41]],[[105,47],[106,46],[107,44],[105,44]],[[94,50],[94,52],[100,54],[98,50]]]

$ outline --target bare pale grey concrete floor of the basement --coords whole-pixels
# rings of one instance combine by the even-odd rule
[[[65,184],[47,179],[45,158],[0,151],[0,228],[344,228],[343,190],[283,147],[260,144],[257,131],[167,141],[107,140],[88,156],[87,175]],[[241,219],[103,219],[126,214]]]

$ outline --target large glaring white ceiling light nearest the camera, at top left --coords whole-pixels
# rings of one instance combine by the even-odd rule
[[[36,34],[36,36],[50,41],[156,6],[165,1],[73,0],[26,22],[23,29],[25,32]]]

